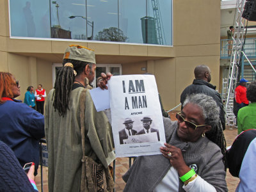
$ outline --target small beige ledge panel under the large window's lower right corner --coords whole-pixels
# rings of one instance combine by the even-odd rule
[[[148,46],[148,56],[174,57],[175,49],[173,47]]]

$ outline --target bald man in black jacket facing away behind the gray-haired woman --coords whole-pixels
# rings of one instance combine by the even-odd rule
[[[223,130],[225,130],[225,111],[223,108],[223,103],[221,101],[220,93],[216,92],[216,86],[213,86],[211,82],[211,70],[207,65],[198,65],[195,70],[195,79],[193,84],[187,86],[180,95],[180,102],[183,106],[183,102],[187,95],[193,93],[204,93],[213,97],[218,106],[220,107],[220,121]]]

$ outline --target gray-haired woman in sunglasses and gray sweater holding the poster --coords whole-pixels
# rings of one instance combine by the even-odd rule
[[[212,129],[219,113],[212,97],[188,96],[177,122],[164,118],[163,155],[138,157],[123,176],[124,191],[228,191],[223,130]]]

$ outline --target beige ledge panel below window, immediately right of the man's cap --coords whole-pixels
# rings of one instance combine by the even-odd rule
[[[119,55],[118,44],[100,44],[88,42],[88,48],[93,49],[95,54]]]

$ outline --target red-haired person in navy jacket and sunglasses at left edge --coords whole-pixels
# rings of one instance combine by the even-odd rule
[[[0,140],[12,148],[21,166],[40,159],[39,140],[44,138],[44,115],[21,100],[19,81],[8,72],[0,72]]]

